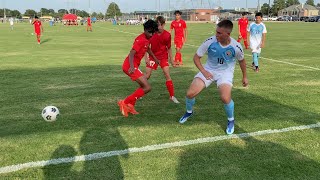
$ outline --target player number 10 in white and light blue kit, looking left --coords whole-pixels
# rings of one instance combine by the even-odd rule
[[[231,89],[236,60],[239,61],[242,71],[242,85],[248,85],[246,61],[241,44],[230,37],[233,23],[230,20],[219,22],[216,35],[207,39],[197,50],[193,61],[200,72],[194,77],[186,96],[187,112],[180,118],[184,123],[193,114],[195,97],[211,83],[216,83],[220,92],[221,101],[228,117],[227,134],[234,132],[234,102],[231,99]],[[206,64],[200,59],[208,53]]]

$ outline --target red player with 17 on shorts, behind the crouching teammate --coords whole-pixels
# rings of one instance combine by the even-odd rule
[[[163,74],[166,78],[166,86],[170,95],[170,100],[174,103],[179,103],[176,97],[174,97],[174,87],[173,82],[169,73],[169,62],[175,67],[175,64],[172,59],[171,51],[171,34],[164,30],[166,20],[163,16],[158,16],[156,18],[156,23],[158,24],[158,32],[155,33],[150,39],[151,51],[160,61],[160,67],[162,68]],[[146,59],[146,77],[150,78],[152,70],[157,70],[158,64],[155,63],[155,60],[152,56]]]

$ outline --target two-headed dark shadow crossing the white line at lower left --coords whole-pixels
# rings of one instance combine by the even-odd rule
[[[81,155],[105,153],[125,150],[128,145],[117,128],[92,128],[87,130],[79,144]],[[76,150],[71,146],[61,145],[51,156],[51,159],[76,156]],[[101,155],[101,154],[100,154]],[[125,154],[121,157],[128,158]],[[93,159],[92,159],[93,158]],[[120,156],[99,158],[98,154],[85,156],[83,163],[77,163],[78,171],[72,170],[74,163],[63,163],[43,167],[45,179],[124,179]]]

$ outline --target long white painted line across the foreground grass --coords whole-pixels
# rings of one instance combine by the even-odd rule
[[[1,167],[0,174],[15,172],[15,171],[19,171],[21,169],[28,169],[28,168],[33,168],[33,167],[44,167],[44,166],[48,166],[48,165],[64,164],[64,163],[80,162],[80,161],[91,161],[91,160],[96,160],[96,159],[101,159],[101,158],[112,157],[112,156],[119,156],[119,155],[123,155],[123,154],[133,154],[133,153],[140,153],[140,152],[147,152],[147,151],[155,151],[155,150],[176,148],[176,147],[182,147],[182,146],[188,146],[188,145],[210,143],[210,142],[216,142],[216,141],[222,141],[222,140],[256,137],[256,136],[262,136],[262,135],[267,135],[267,134],[277,134],[277,133],[306,130],[306,129],[313,129],[313,128],[319,128],[319,127],[320,127],[320,122],[318,122],[316,124],[309,124],[309,125],[303,125],[303,126],[292,126],[292,127],[283,128],[283,129],[263,130],[263,131],[257,131],[257,132],[251,132],[251,133],[205,137],[205,138],[199,138],[199,139],[194,139],[194,140],[177,141],[177,142],[171,142],[171,143],[149,145],[149,146],[144,146],[144,147],[140,147],[140,148],[129,148],[129,149],[124,149],[124,150],[99,152],[99,153],[74,156],[74,157],[68,157],[68,158],[58,158],[58,159],[50,159],[50,160],[46,160],[46,161],[28,162],[28,163],[22,163],[22,164]]]

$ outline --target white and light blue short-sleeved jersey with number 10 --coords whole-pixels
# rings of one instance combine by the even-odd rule
[[[234,70],[236,60],[244,59],[244,52],[240,43],[231,38],[227,46],[222,46],[216,36],[207,39],[197,50],[197,55],[203,57],[208,53],[205,68],[208,70]]]

